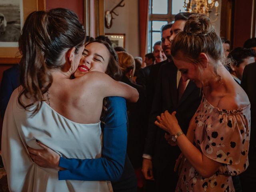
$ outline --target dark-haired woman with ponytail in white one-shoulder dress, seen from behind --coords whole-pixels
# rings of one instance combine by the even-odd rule
[[[70,79],[82,57],[85,36],[76,14],[67,9],[33,12],[26,19],[19,40],[21,86],[10,98],[2,132],[10,191],[112,190],[106,181],[59,181],[57,169],[36,166],[27,150],[38,148],[40,140],[65,158],[97,158],[103,98],[138,100],[134,88],[101,72]]]

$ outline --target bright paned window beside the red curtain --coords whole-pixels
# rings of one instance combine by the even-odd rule
[[[185,12],[183,6],[184,0],[149,0],[148,52],[153,52],[154,43],[161,40],[161,27]]]

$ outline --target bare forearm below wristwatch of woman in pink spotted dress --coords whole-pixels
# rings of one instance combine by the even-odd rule
[[[184,134],[177,138],[177,144],[190,164],[204,178],[212,176],[218,170],[220,163],[204,156]]]

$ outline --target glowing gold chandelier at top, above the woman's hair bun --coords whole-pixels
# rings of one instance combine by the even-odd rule
[[[202,13],[206,14],[208,17],[212,12],[212,8],[215,7],[215,16],[218,16],[218,6],[217,0],[184,0],[184,8],[186,12],[192,13]]]

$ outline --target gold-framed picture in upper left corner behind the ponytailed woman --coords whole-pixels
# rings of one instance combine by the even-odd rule
[[[28,14],[36,10],[45,10],[45,0],[0,0],[0,64],[20,61],[20,32]]]

